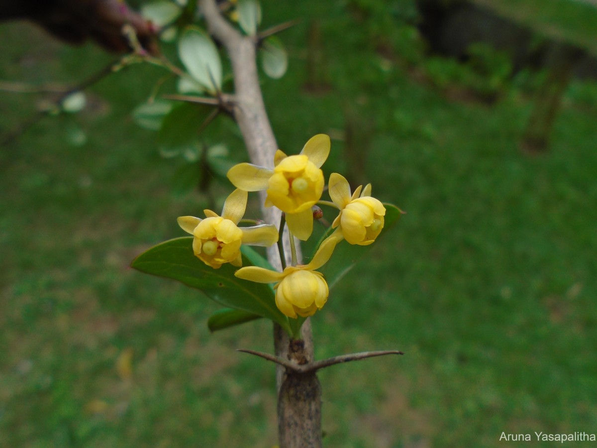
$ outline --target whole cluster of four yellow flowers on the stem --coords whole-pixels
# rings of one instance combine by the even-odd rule
[[[271,246],[278,241],[275,225],[239,227],[247,207],[247,192],[266,190],[267,207],[275,206],[285,214],[288,231],[300,240],[307,240],[313,231],[313,205],[321,200],[325,180],[321,165],[330,154],[330,137],[312,137],[298,155],[277,151],[273,168],[241,163],[230,168],[227,177],[236,186],[224,203],[221,216],[204,210],[205,219],[179,217],[181,228],[193,235],[193,251],[214,269],[223,263],[242,266],[241,244]],[[359,186],[351,194],[346,179],[333,173],[328,182],[333,204],[340,210],[332,223],[336,229],[318,248],[307,265],[287,266],[283,272],[247,266],[235,275],[258,283],[276,283],[276,305],[291,318],[307,317],[321,309],[328,299],[328,285],[317,272],[331,257],[336,244],[367,246],[373,243],[384,225],[386,208],[371,197],[371,184]],[[283,256],[283,254],[281,254]]]

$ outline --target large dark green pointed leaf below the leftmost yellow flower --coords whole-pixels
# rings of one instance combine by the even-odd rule
[[[236,278],[235,266],[226,263],[220,269],[205,265],[193,254],[193,237],[165,241],[140,254],[131,266],[141,272],[172,278],[192,288],[201,290],[210,299],[228,308],[257,314],[279,323],[290,333],[288,318],[276,307],[271,286]],[[253,253],[242,252],[243,266],[252,266]],[[254,252],[250,250],[250,252]]]

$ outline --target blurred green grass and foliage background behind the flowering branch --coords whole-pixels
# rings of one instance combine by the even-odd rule
[[[502,431],[594,432],[597,84],[583,42],[594,42],[597,10],[478,1],[506,28],[485,22],[488,38],[448,51],[425,23],[443,17],[432,29],[447,32],[464,4],[421,14],[430,3],[262,3],[262,28],[301,20],[279,35],[288,72],[263,77],[281,149],[328,133],[326,175],[373,182],[407,211],[313,318],[319,358],[406,352],[321,372],[324,443],[498,446]],[[506,31],[515,47],[496,43]],[[80,112],[27,125],[52,95],[14,82],[76,85],[115,56],[26,23],[3,23],[0,41],[2,445],[275,444],[273,366],[234,351],[271,351],[270,325],[210,335],[215,303],[128,268],[183,235],[177,216],[220,209],[230,186],[198,161],[205,148],[246,158],[232,122],[204,131],[203,152],[164,158],[133,118],[164,73],[136,65],[89,88]],[[549,149],[536,151],[524,135],[555,82],[550,48],[580,56],[543,130]]]

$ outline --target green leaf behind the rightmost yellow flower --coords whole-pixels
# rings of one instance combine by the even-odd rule
[[[374,249],[377,244],[380,244],[379,241],[383,240],[386,236],[387,232],[392,228],[392,226],[398,222],[402,211],[396,207],[396,205],[392,204],[383,204],[386,207],[386,216],[384,216],[384,226],[381,233],[377,236],[376,241],[369,246],[358,246],[358,244],[349,244],[346,241],[341,241],[338,246],[334,249],[334,253],[331,256],[331,259],[325,263],[319,269],[319,271],[324,274],[325,280],[328,283],[328,287],[330,289],[340,281],[344,275],[346,275],[350,269],[355,267],[356,263],[361,259],[362,256],[369,253],[372,249]],[[328,229],[325,235],[319,241],[319,245],[325,238],[329,237],[330,234],[333,232],[333,229]]]

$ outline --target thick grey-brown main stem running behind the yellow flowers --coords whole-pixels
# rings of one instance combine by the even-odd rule
[[[257,75],[256,42],[254,38],[242,36],[230,23],[224,20],[214,0],[200,0],[199,10],[207,22],[208,31],[219,41],[228,53],[232,63],[234,79],[235,102],[232,104],[232,115],[241,130],[247,152],[256,165],[273,167],[273,157],[278,149],[278,143],[273,135],[272,127],[267,118],[263,96]],[[265,192],[261,192],[261,211],[264,220],[269,223],[279,223],[281,211],[276,207],[265,207]],[[288,231],[284,232],[284,248],[290,263],[290,240]],[[297,253],[300,259],[300,253]],[[271,265],[281,270],[281,261],[275,246],[267,250],[267,259]],[[313,338],[310,320],[307,319],[301,328],[304,340],[304,354],[306,359],[313,360]],[[273,324],[274,349],[278,358],[288,358],[290,338],[279,324]],[[278,431],[280,446],[287,448],[296,445],[296,441],[309,442],[305,446],[321,446],[321,397],[319,382],[313,375],[310,381],[304,382],[310,391],[304,397],[310,397],[301,402],[295,392],[299,390],[288,381],[286,370],[281,366],[276,369],[276,385],[278,388]],[[317,398],[313,398],[317,397]]]

